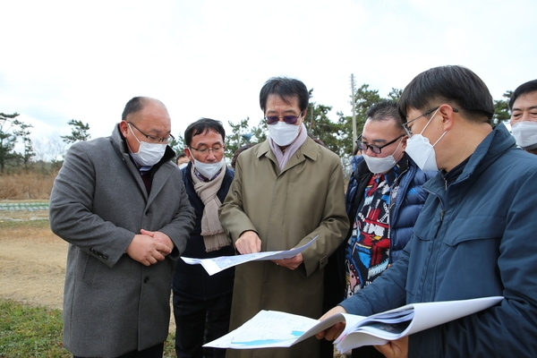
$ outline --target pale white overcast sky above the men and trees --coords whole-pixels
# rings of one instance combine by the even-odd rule
[[[135,96],[158,98],[183,134],[200,117],[238,124],[287,76],[352,115],[355,87],[387,97],[431,67],[476,72],[494,99],[537,78],[535,0],[0,1],[0,112],[38,145],[71,119],[108,136]]]

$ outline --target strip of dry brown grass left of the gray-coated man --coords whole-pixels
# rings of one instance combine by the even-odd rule
[[[55,175],[34,172],[0,175],[0,200],[48,200]]]

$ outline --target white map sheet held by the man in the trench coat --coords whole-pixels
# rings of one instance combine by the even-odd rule
[[[203,268],[205,268],[207,273],[212,276],[226,268],[231,268],[244,262],[291,259],[299,252],[302,252],[304,251],[304,249],[310,247],[310,245],[315,242],[317,237],[318,236],[315,236],[311,239],[311,242],[306,243],[303,246],[299,246],[286,251],[265,251],[257,253],[247,253],[244,255],[220,256],[214,259],[192,259],[188,257],[181,257],[181,259],[183,259],[183,261],[188,263],[189,265],[200,264],[201,266],[203,266]]]

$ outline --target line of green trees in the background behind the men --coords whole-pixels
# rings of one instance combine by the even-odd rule
[[[402,90],[392,89],[385,98],[397,101]],[[510,117],[507,104],[512,91],[504,93],[503,98],[494,100],[495,115],[494,124],[507,120]],[[313,89],[310,90],[313,98]],[[351,97],[351,96],[349,96]],[[354,91],[349,104],[354,101],[356,133],[361,133],[365,123],[366,112],[374,104],[384,99],[379,95],[379,90],[371,90],[368,84],[363,84]],[[353,117],[337,112],[337,120],[328,117],[332,107],[310,101],[304,125],[311,137],[325,143],[328,149],[337,153],[346,167],[352,155],[353,143]],[[5,172],[29,170],[30,168],[57,169],[61,166],[66,148],[77,141],[90,139],[90,125],[81,121],[70,120],[71,134],[57,138],[49,138],[47,143],[34,143],[30,139],[31,124],[25,124],[17,117],[18,113],[0,113],[0,175]],[[261,118],[257,124],[253,124],[250,117],[240,120],[238,123],[228,122],[231,132],[226,135],[226,158],[231,158],[236,149],[245,144],[259,143],[267,138],[267,124]],[[21,150],[15,150],[16,143],[20,141]],[[176,153],[183,152],[184,143],[182,133],[179,133],[174,141],[169,143]]]

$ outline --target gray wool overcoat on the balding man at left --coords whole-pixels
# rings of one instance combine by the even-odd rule
[[[112,136],[69,149],[49,216],[70,243],[64,346],[72,354],[115,357],[166,341],[175,262],[194,223],[173,156],[167,148],[148,196],[117,125]],[[125,250],[141,228],[167,234],[174,251],[149,267],[132,260]]]

